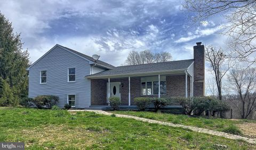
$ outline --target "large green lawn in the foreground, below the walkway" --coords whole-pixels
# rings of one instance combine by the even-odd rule
[[[256,149],[242,140],[93,112],[0,108],[0,142],[26,149]]]

